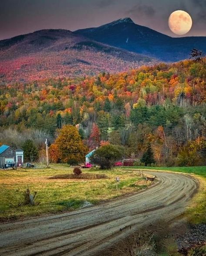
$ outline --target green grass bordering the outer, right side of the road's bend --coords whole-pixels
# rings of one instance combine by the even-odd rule
[[[199,191],[192,198],[192,202],[186,211],[189,223],[200,224],[206,223],[206,166],[191,166],[191,167],[144,167],[132,166],[124,167],[124,169],[142,169],[142,170],[162,170],[179,173],[188,173],[195,175],[199,180]]]

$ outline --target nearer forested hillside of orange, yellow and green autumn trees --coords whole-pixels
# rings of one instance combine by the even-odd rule
[[[159,165],[205,164],[206,59],[0,86],[1,143],[41,149],[64,124],[89,149],[109,141],[140,159],[151,144]]]

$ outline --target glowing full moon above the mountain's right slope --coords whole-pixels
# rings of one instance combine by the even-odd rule
[[[185,35],[192,28],[192,18],[184,10],[176,10],[169,16],[169,28],[176,35]]]

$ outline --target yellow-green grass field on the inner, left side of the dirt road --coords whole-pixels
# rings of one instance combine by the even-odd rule
[[[137,173],[132,171],[83,170],[84,173],[105,173],[107,178],[95,180],[49,179],[57,174],[72,173],[67,165],[51,165],[50,169],[19,169],[0,171],[0,221],[70,211],[85,201],[100,201],[130,194],[146,187]],[[116,190],[116,177],[120,177]],[[37,191],[34,206],[19,206],[29,185],[31,194]]]

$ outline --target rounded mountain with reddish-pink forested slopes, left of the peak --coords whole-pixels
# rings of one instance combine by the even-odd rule
[[[105,45],[77,33],[49,29],[0,41],[0,81],[117,73],[152,58]]]

